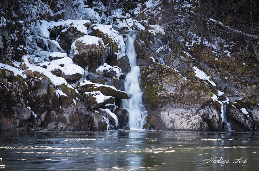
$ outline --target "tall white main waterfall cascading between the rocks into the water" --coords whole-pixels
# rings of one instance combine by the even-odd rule
[[[130,32],[125,38],[126,54],[129,58],[131,71],[126,75],[124,86],[126,92],[132,94],[128,100],[122,100],[122,108],[129,114],[128,126],[131,129],[142,129],[146,123],[146,109],[142,104],[142,91],[139,86],[140,68],[136,66],[136,53],[134,47],[135,32]]]

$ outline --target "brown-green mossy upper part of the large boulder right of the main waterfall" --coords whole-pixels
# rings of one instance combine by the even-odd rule
[[[153,107],[161,107],[170,101],[205,106],[212,102],[214,94],[203,83],[185,81],[179,73],[158,63],[141,70],[140,86],[146,102]]]

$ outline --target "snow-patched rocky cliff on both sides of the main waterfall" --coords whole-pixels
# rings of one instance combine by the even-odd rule
[[[181,7],[188,12],[199,8],[186,2]],[[182,31],[173,42],[167,32],[172,25],[161,24],[168,5],[159,0],[4,3],[0,130],[127,126],[121,100],[131,98],[124,86],[131,68],[124,38],[134,31],[147,111],[143,128],[257,131],[256,58],[240,57],[238,40],[210,39],[193,30],[191,38]],[[181,25],[181,16],[176,21]]]

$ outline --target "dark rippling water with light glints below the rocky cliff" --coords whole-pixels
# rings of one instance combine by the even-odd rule
[[[0,132],[2,170],[254,170],[257,132]],[[247,158],[240,164],[204,159]]]

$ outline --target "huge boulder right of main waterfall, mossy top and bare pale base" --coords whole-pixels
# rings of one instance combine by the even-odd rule
[[[162,78],[162,79],[161,79]],[[220,131],[220,106],[213,93],[198,81],[185,79],[174,69],[153,63],[141,70],[147,124],[158,130]]]

